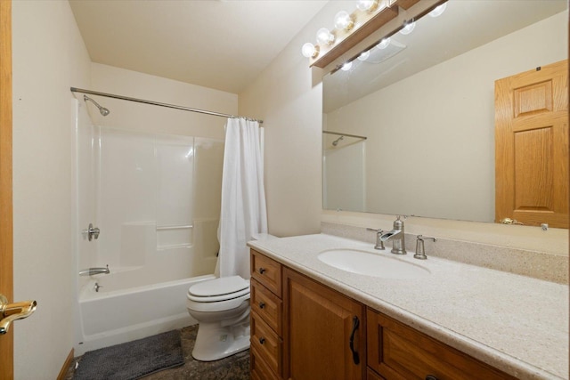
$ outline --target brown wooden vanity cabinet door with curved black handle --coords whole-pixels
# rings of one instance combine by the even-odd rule
[[[284,270],[285,378],[363,379],[366,326],[361,303]]]

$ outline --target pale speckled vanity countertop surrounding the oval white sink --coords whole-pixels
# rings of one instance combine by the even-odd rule
[[[395,256],[358,240],[318,234],[248,243],[428,336],[520,379],[568,379],[568,286],[429,257]],[[322,263],[352,248],[420,265],[419,279],[382,279]],[[428,253],[429,255],[429,253]]]

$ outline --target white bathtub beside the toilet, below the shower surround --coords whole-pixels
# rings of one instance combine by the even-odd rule
[[[188,287],[214,278],[204,275],[129,288],[130,279],[120,272],[92,276],[79,294],[75,355],[198,323],[186,310]],[[96,282],[102,285],[98,292]]]

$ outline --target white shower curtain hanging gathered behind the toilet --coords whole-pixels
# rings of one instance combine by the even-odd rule
[[[267,232],[262,129],[243,118],[229,118],[225,129],[219,273],[249,279],[246,243]]]

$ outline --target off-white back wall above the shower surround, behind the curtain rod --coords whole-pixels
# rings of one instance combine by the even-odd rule
[[[229,115],[238,113],[238,95],[199,85],[155,77],[99,63],[92,64],[92,90],[146,101],[158,101],[193,109],[206,109]],[[91,95],[89,95],[91,96]],[[83,99],[83,95],[77,97]],[[130,131],[174,133],[224,139],[225,117],[214,117],[179,109],[168,109],[132,101],[93,96],[110,109],[107,117],[90,106],[95,125]]]

